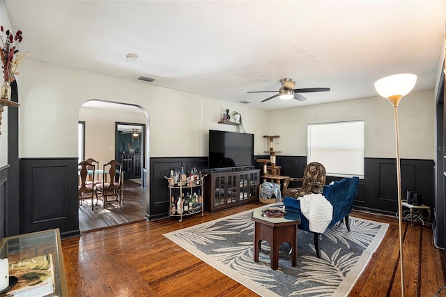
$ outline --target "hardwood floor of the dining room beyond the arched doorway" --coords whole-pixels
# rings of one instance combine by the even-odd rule
[[[139,183],[124,180],[123,205],[118,203],[106,204],[103,208],[102,201],[96,199],[91,211],[91,199],[85,199],[79,206],[79,230],[82,233],[94,229],[125,224],[128,222],[144,221],[146,215],[146,189],[141,188]]]

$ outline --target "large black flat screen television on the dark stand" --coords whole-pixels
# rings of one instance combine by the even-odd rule
[[[209,169],[254,166],[254,134],[209,130]]]

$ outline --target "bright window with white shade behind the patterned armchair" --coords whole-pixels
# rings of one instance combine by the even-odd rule
[[[364,177],[364,121],[309,124],[307,162],[320,162],[330,176]]]

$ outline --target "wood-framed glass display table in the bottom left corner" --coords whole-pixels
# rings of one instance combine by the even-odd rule
[[[5,237],[1,240],[0,247],[0,258],[8,258],[10,263],[52,254],[55,290],[54,293],[47,296],[68,296],[59,229]]]

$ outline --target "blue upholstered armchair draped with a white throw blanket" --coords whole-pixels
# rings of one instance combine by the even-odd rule
[[[359,178],[353,176],[352,178],[344,178],[341,181],[336,181],[332,185],[324,185],[322,195],[332,204],[333,214],[332,220],[325,229],[330,229],[340,222],[345,220],[346,227],[350,231],[350,225],[348,223],[348,215],[353,208],[353,201],[356,198],[357,185],[359,184]],[[301,212],[301,205],[298,199],[293,197],[284,198],[284,206],[286,211],[299,211]],[[316,248],[316,254],[320,258],[321,250],[319,249],[318,238],[322,233],[316,233],[309,229],[309,220],[305,218],[305,215],[300,215],[301,223],[298,228],[314,233],[314,248]]]

